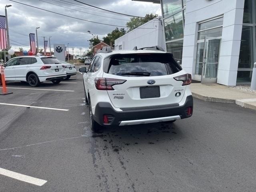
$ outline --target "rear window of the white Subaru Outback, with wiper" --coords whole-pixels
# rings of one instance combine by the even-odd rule
[[[108,74],[118,76],[163,76],[182,68],[171,54],[122,54],[110,59]]]

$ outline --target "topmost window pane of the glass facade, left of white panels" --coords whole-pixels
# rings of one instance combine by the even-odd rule
[[[181,0],[162,0],[163,16],[176,13],[182,9]]]

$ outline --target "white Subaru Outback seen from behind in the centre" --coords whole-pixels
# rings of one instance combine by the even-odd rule
[[[85,72],[91,128],[174,122],[193,112],[191,75],[155,46],[114,51],[104,47]]]

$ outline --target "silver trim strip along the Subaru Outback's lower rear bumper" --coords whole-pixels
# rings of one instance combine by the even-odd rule
[[[129,120],[129,121],[121,121],[119,126],[156,123],[156,122],[172,121],[172,120],[177,120],[177,119],[180,119],[179,115],[169,116],[169,117],[158,117],[158,118],[152,118],[152,119]]]

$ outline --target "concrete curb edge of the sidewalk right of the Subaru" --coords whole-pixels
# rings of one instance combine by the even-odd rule
[[[200,100],[207,101],[207,102],[234,103],[234,104],[237,104],[237,105],[245,107],[245,108],[256,110],[256,106],[253,104],[250,104],[250,102],[256,102],[256,99],[241,99],[241,100],[224,99],[224,98],[203,96],[203,95],[193,93],[193,92],[192,92],[192,96],[194,98],[198,98]]]

